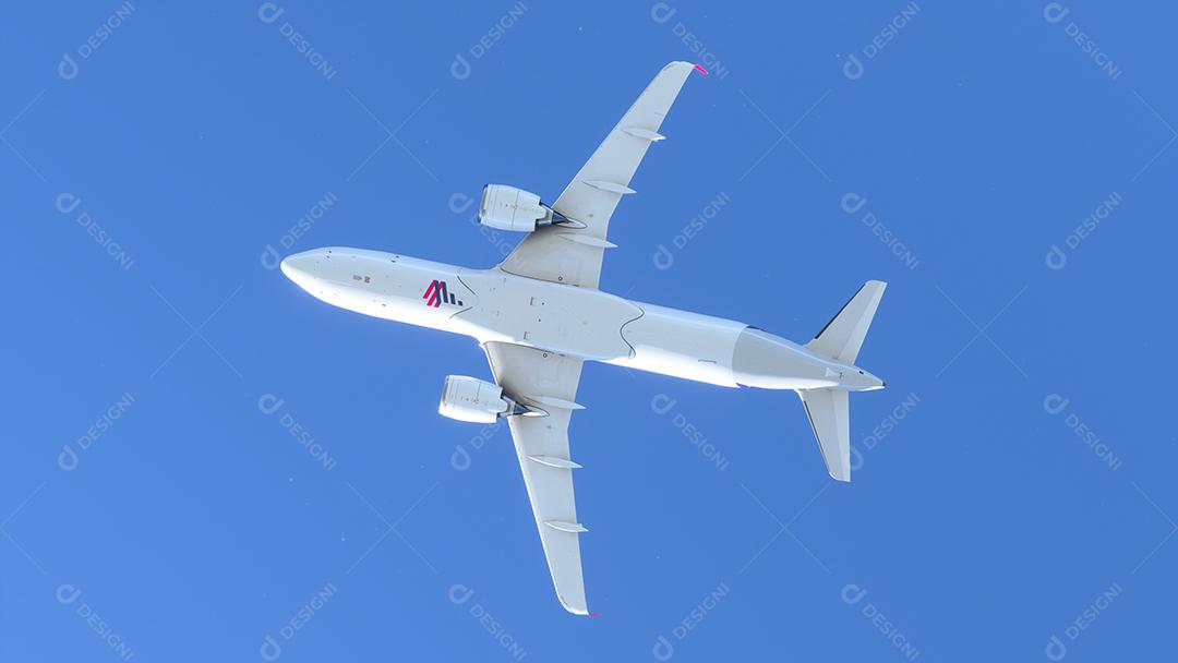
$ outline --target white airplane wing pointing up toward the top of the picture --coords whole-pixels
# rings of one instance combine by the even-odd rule
[[[659,127],[695,68],[703,71],[691,62],[671,62],[663,67],[556,199],[552,210],[585,227],[537,228],[499,264],[501,270],[552,283],[597,287],[602,254],[614,246],[605,239],[609,219],[622,195],[634,193],[630,179],[650,144],[663,139]]]

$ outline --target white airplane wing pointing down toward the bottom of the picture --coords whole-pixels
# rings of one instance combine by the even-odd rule
[[[581,572],[581,532],[573,495],[569,417],[581,380],[581,359],[511,343],[483,344],[495,382],[511,398],[541,407],[547,417],[508,417],[528,499],[544,545],[556,597],[575,615],[588,615]]]

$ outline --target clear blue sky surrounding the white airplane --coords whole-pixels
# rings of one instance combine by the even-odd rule
[[[1171,5],[7,19],[0,658],[1174,656]],[[491,266],[470,198],[554,198],[679,59],[713,74],[603,289],[805,340],[887,280],[860,363],[888,389],[852,398],[836,485],[790,393],[589,365],[604,616],[575,618],[505,426],[436,412],[445,374],[489,377],[476,344],[267,257]]]

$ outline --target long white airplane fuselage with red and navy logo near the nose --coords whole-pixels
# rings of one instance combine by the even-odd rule
[[[881,389],[856,366],[743,323],[508,273],[363,248],[291,256],[283,272],[357,313],[728,387]]]

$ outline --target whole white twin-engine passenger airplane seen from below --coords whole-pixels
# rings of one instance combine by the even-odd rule
[[[318,299],[388,320],[474,337],[494,382],[446,376],[438,412],[472,423],[507,419],[536,529],[565,610],[589,615],[582,533],[573,495],[569,419],[582,410],[587,360],[727,387],[801,396],[827,471],[851,480],[847,396],[882,389],[855,365],[886,284],[867,281],[805,345],[735,320],[630,301],[598,290],[618,201],[693,71],[670,62],[622,115],[552,205],[487,185],[479,221],[527,233],[497,266],[476,270],[364,248],[289,256],[283,273]]]

